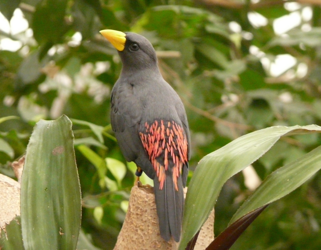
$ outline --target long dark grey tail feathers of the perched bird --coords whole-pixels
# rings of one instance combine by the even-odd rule
[[[176,242],[180,239],[182,216],[184,210],[184,193],[181,176],[177,179],[178,191],[175,186],[171,173],[166,173],[163,189],[159,189],[158,177],[154,178],[155,202],[157,208],[158,221],[161,237],[169,241],[170,236]]]

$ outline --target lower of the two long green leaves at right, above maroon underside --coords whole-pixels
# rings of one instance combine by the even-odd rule
[[[233,223],[243,215],[279,200],[310,179],[321,168],[321,146],[268,175],[256,191],[233,215]]]

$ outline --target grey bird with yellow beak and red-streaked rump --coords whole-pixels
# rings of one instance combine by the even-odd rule
[[[111,93],[110,120],[126,161],[154,182],[161,237],[180,240],[190,158],[184,105],[160,74],[152,44],[132,32],[100,33],[118,50],[120,76]],[[142,215],[143,216],[143,215]]]

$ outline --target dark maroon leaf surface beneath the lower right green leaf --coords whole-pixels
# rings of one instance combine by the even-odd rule
[[[260,207],[239,218],[219,234],[205,250],[229,250],[245,229],[247,229],[266,207],[267,205]]]

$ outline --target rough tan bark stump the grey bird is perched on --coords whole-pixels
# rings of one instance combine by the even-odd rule
[[[186,194],[187,189],[184,190]],[[205,249],[214,240],[214,211],[198,236],[195,250]],[[123,227],[114,250],[176,250],[172,238],[166,242],[160,237],[153,188],[134,186]]]

